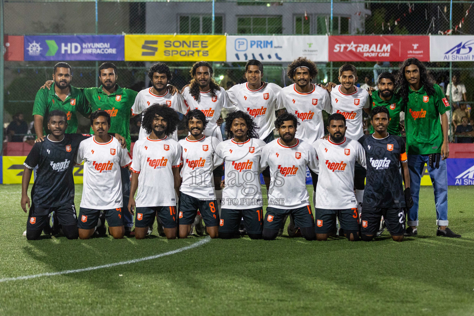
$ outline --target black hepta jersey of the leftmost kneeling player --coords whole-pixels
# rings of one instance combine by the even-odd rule
[[[38,166],[31,189],[31,201],[36,207],[74,204],[74,155],[79,144],[89,137],[91,135],[64,134],[60,142],[45,137],[43,142],[35,143],[24,165],[29,169]]]

